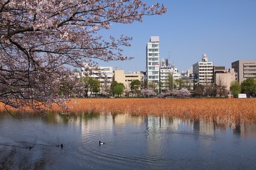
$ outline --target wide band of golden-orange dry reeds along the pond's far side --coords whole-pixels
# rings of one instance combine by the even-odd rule
[[[74,98],[72,113],[128,113],[183,120],[256,123],[256,98]],[[3,106],[0,105],[0,109]],[[53,111],[60,111],[57,106]]]

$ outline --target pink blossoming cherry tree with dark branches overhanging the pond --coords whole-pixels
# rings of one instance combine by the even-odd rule
[[[16,108],[58,103],[68,66],[129,59],[121,46],[132,38],[103,38],[99,30],[165,12],[139,0],[1,0],[0,101]]]

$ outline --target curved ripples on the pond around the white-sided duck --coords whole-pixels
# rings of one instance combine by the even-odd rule
[[[109,165],[129,169],[132,165],[152,166],[167,163],[170,160],[161,157],[165,145],[161,145],[159,154],[150,154],[150,145],[145,145],[146,132],[141,126],[119,126],[102,130],[88,131],[82,135],[82,144],[78,150],[83,159],[89,159],[91,166]],[[102,140],[105,145],[99,145]],[[88,166],[88,162],[87,162]]]

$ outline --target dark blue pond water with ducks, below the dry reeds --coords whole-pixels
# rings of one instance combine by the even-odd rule
[[[256,169],[256,125],[121,114],[19,118],[0,114],[0,169]]]

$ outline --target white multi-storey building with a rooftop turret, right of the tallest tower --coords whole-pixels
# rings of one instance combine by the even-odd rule
[[[194,84],[213,84],[213,62],[208,62],[206,54],[203,54],[202,61],[193,64]]]

